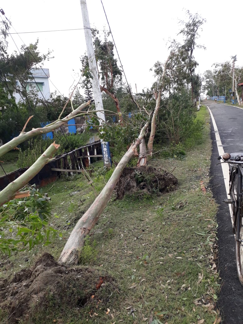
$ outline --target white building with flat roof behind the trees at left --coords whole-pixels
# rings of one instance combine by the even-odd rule
[[[49,69],[37,68],[31,69],[30,72],[33,75],[34,80],[27,81],[27,91],[34,88],[37,90],[40,99],[48,100],[50,98]],[[16,81],[16,86],[21,87],[19,81]],[[21,101],[21,97],[18,93],[14,93],[14,97],[16,98],[16,102]]]

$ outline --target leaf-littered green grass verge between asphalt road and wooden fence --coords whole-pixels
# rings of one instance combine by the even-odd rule
[[[157,155],[149,160],[153,167],[173,170],[178,189],[162,196],[125,195],[122,200],[113,194],[86,239],[76,266],[80,281],[69,277],[56,295],[50,291],[41,305],[29,310],[25,323],[148,323],[151,313],[154,323],[214,323],[212,305],[220,288],[214,266],[217,205],[210,190],[201,190],[202,182],[207,186],[209,181],[211,140],[207,110],[202,107],[197,115],[205,127],[196,147],[183,159]],[[54,226],[63,238],[27,252],[29,265],[44,251],[59,257],[77,220],[112,173],[100,163],[95,170],[93,187],[82,175],[45,187],[59,216]],[[13,260],[12,272],[21,268],[24,255]],[[99,276],[110,280],[96,290]],[[69,295],[72,303],[66,300]],[[81,297],[87,297],[82,306],[77,304]]]

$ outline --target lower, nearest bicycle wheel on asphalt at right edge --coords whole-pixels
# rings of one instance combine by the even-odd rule
[[[243,285],[243,218],[241,209],[237,215],[236,266],[239,281]]]

